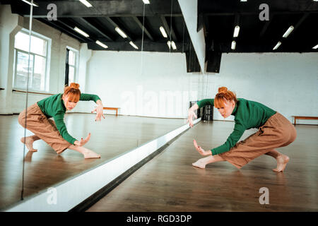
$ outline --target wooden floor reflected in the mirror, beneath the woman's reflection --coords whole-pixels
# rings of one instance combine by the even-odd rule
[[[91,133],[87,148],[101,155],[100,159],[85,160],[74,150],[57,155],[44,141],[35,141],[37,153],[25,151],[24,197],[63,182],[96,165],[116,157],[138,145],[162,136],[185,124],[184,119],[146,117],[115,117],[95,122],[95,114],[67,114],[66,127],[75,138]],[[20,200],[23,172],[24,129],[18,115],[0,116],[0,209]],[[32,135],[28,131],[27,136]]]

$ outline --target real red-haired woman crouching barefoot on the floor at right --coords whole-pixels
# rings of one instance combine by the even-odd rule
[[[200,100],[189,109],[188,122],[191,127],[193,118],[196,118],[194,110],[206,105],[216,107],[224,118],[233,115],[235,126],[228,140],[217,148],[204,150],[194,140],[194,147],[200,155],[208,155],[194,162],[194,167],[205,168],[206,164],[211,162],[228,161],[240,169],[254,158],[266,154],[277,160],[277,167],[273,171],[281,172],[285,169],[289,157],[274,148],[292,143],[297,133],[293,124],[282,114],[259,102],[236,98],[228,88],[221,87],[214,99]],[[237,143],[244,131],[251,128],[257,128],[259,131]]]

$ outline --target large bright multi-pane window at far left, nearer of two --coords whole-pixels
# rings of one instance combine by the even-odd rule
[[[47,52],[49,39],[42,35],[31,35],[30,62],[29,62],[29,35],[28,31],[21,30],[15,36],[15,69],[13,87],[30,90],[47,90]],[[29,75],[29,81],[28,81]]]

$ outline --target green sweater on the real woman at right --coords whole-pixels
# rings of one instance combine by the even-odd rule
[[[214,99],[200,100],[197,102],[197,105],[199,108],[206,105],[214,106]],[[218,155],[230,150],[234,147],[237,141],[240,140],[245,130],[263,126],[267,119],[273,116],[273,114],[276,114],[273,109],[270,109],[259,102],[238,98],[232,112],[232,115],[235,117],[234,130],[223,145],[218,146],[218,148],[211,149],[212,155]]]

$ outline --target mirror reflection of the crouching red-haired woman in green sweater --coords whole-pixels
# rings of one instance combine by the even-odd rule
[[[93,112],[96,112],[95,121],[100,121],[101,117],[104,117],[102,111],[102,101],[97,95],[84,94],[79,90],[77,83],[71,83],[70,86],[64,88],[64,93],[52,95],[39,102],[28,107],[27,116],[25,116],[25,110],[19,114],[18,121],[21,126],[25,128],[25,117],[26,117],[26,129],[32,131],[35,135],[23,137],[21,141],[25,143],[29,151],[36,152],[33,149],[33,142],[42,139],[48,143],[57,154],[62,153],[67,148],[76,150],[82,153],[85,158],[99,158],[100,155],[94,153],[93,150],[84,148],[89,139],[88,136],[77,141],[67,132],[64,124],[64,114],[67,110],[73,109],[78,100],[89,101],[93,100],[98,107]],[[92,112],[92,113],[93,113]],[[52,119],[49,119],[53,117]]]

